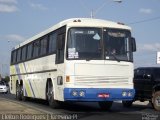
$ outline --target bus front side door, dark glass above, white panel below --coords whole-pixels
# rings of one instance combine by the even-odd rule
[[[56,62],[57,65],[57,77],[54,82],[54,97],[57,100],[63,100],[63,84],[64,84],[64,46],[65,46],[65,32],[58,34],[57,36],[57,51]]]

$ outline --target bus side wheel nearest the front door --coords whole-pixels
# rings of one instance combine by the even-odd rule
[[[49,106],[52,108],[59,108],[60,103],[57,100],[54,100],[54,92],[53,92],[53,85],[51,82],[48,82],[48,87],[47,87],[47,100],[49,102]]]

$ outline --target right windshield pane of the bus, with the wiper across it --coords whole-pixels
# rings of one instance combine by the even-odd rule
[[[129,31],[104,29],[105,58],[107,60],[133,61],[130,38]]]

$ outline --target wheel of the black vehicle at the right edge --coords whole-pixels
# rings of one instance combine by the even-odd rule
[[[160,91],[157,91],[153,94],[152,103],[154,109],[160,111]]]

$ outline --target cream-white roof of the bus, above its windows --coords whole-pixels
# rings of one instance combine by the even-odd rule
[[[59,22],[58,24],[50,27],[49,29],[29,38],[28,40],[20,43],[19,45],[17,45],[16,47],[13,48],[17,49],[25,44],[30,43],[31,41],[34,41],[62,26],[67,25],[68,27],[108,27],[108,28],[119,28],[119,29],[126,29],[126,30],[131,30],[131,28],[129,26],[126,26],[124,24],[121,23],[116,23],[116,22],[112,22],[112,21],[107,21],[107,20],[102,20],[102,19],[93,19],[93,18],[71,18],[71,19],[67,19],[64,20],[62,22]]]

